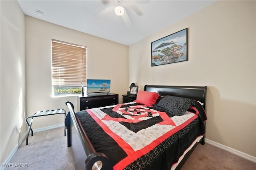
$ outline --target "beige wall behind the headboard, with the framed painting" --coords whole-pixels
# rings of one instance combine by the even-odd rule
[[[145,84],[208,86],[206,139],[251,156],[256,156],[255,11],[255,1],[218,1],[129,47],[129,82],[140,90]],[[186,27],[188,61],[151,67],[151,42]]]

